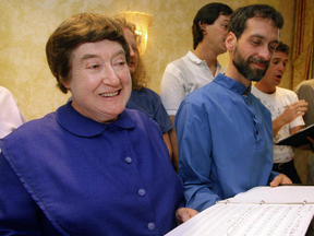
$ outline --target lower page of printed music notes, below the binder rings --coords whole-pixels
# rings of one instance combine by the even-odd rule
[[[166,236],[301,236],[313,214],[314,205],[215,204]]]

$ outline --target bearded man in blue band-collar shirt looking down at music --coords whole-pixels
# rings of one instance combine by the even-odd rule
[[[230,19],[225,74],[194,91],[176,116],[179,175],[186,206],[203,211],[255,186],[291,184],[273,168],[269,110],[251,93],[279,44],[282,15],[273,7],[240,8]]]

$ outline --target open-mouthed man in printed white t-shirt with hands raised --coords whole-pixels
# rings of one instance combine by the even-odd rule
[[[299,101],[293,91],[278,87],[288,63],[289,47],[282,42],[276,48],[269,68],[252,93],[270,110],[273,120],[274,144],[304,128],[302,116],[307,109],[307,103]],[[273,170],[287,175],[293,184],[301,179],[293,164],[293,148],[274,145]]]

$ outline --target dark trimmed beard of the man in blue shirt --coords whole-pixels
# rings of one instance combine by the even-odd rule
[[[245,59],[242,57],[240,51],[238,50],[238,47],[233,50],[233,59],[232,62],[234,67],[238,69],[238,71],[247,80],[250,81],[261,81],[263,76],[265,75],[268,67],[269,61],[264,60],[262,58],[253,58],[252,56]],[[252,62],[263,63],[265,64],[265,69],[252,69],[250,64]]]

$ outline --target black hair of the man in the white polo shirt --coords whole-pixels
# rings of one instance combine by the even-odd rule
[[[200,27],[201,24],[214,24],[214,22],[219,17],[219,15],[231,15],[233,10],[224,3],[213,2],[204,5],[197,12],[194,17],[192,25],[192,34],[193,34],[193,48],[195,49],[197,45],[203,40],[203,31]],[[215,37],[213,35],[213,37]]]

